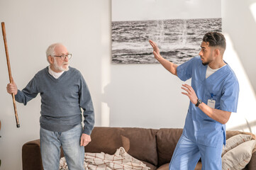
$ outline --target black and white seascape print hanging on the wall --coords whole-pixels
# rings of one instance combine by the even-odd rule
[[[179,12],[176,11],[174,11],[176,13],[172,14],[167,10],[167,13],[170,13],[169,15],[164,15],[162,11],[161,15],[157,15],[157,12],[154,11],[152,13],[156,13],[156,16],[140,19],[143,18],[143,14],[138,14],[138,16],[130,14],[131,16],[128,16],[129,10],[126,10],[130,4],[130,6],[133,6],[133,3],[136,4],[136,1],[143,1],[143,8],[148,7],[148,11],[152,11],[152,7],[146,5],[148,3],[158,6],[158,8],[153,9],[161,10],[168,5],[172,6],[173,9],[177,1],[179,1],[177,8],[180,7],[187,10],[188,7],[186,8],[186,6],[191,5],[193,7],[198,4],[199,8],[208,8],[208,11],[206,9],[195,11],[196,8],[191,7],[191,11],[187,11],[185,15],[184,12],[181,13],[180,17],[178,15]],[[158,0],[127,0],[130,3],[126,3],[126,0],[112,0],[113,64],[158,63],[152,54],[152,47],[148,40],[153,40],[157,43],[162,57],[175,64],[182,64],[199,54],[201,41],[205,33],[210,31],[221,32],[221,0],[162,1],[165,3],[162,3],[161,8]],[[181,1],[183,1],[183,5]],[[143,3],[137,4],[143,5]],[[214,12],[212,12],[209,9],[211,5],[213,8],[218,8],[218,10],[213,10]],[[115,8],[118,8],[118,10],[115,10]],[[136,13],[136,9],[134,12]],[[133,13],[133,11],[130,11],[130,13]],[[206,15],[207,13],[209,14]],[[147,15],[148,12],[145,12],[145,16]],[[204,16],[206,18],[200,18]]]

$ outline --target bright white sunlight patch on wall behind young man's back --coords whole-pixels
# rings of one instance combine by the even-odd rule
[[[256,7],[256,6],[255,6]],[[240,93],[238,99],[238,113],[232,113],[230,120],[226,124],[227,130],[240,130],[256,133],[256,96],[252,89],[250,81],[243,69],[240,59],[235,52],[229,35],[225,34],[227,47],[224,54],[224,60],[228,62],[235,72],[239,81]]]

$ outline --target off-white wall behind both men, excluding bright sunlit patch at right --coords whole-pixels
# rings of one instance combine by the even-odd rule
[[[223,1],[223,31],[233,40],[256,89],[255,21],[240,18],[249,15],[246,6],[251,2]],[[74,56],[71,66],[89,85],[97,126],[183,127],[189,100],[181,94],[182,81],[160,64],[111,64],[110,0],[0,0],[0,21],[6,24],[11,69],[19,89],[48,65],[48,45],[62,42]],[[21,128],[16,128],[11,96],[6,93],[9,78],[1,40],[0,35],[1,169],[22,169],[22,145],[39,138],[40,96],[27,106],[17,103]]]

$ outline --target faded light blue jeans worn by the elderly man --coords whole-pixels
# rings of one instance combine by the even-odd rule
[[[69,170],[84,170],[84,147],[80,146],[82,124],[66,132],[52,132],[40,128],[40,149],[44,170],[57,170],[60,166],[62,146]]]

